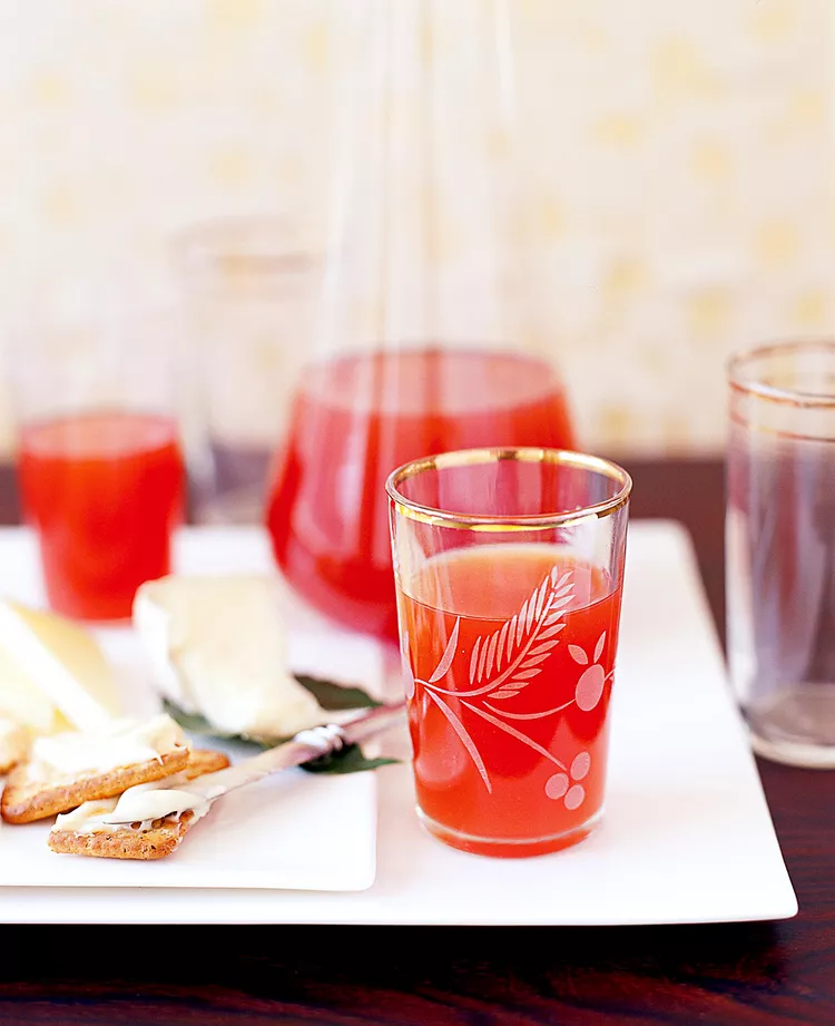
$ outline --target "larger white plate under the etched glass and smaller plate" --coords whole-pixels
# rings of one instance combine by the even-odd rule
[[[377,873],[361,892],[156,888],[163,860],[134,867],[147,870],[141,895],[131,887],[0,887],[0,919],[597,926],[794,916],[797,900],[730,700],[690,539],[677,524],[638,520],[628,550],[607,811],[576,848],[523,861],[449,849],[418,824],[403,762],[357,774],[380,785]],[[405,735],[387,735],[384,747],[407,758]],[[340,810],[321,808],[320,843],[342,859],[367,823],[352,814],[353,825],[340,829],[332,819]],[[259,817],[250,828],[250,838],[264,830],[276,847],[297,836],[288,815]],[[198,829],[189,839],[195,862],[210,859],[224,833],[208,819],[199,840]],[[186,842],[173,859],[180,853]]]

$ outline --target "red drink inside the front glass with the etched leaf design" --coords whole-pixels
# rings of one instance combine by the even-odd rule
[[[602,809],[620,588],[550,545],[431,559],[400,596],[418,808],[468,851],[531,856]]]

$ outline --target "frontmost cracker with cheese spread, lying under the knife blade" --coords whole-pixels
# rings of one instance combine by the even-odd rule
[[[156,781],[149,788],[176,788],[186,781],[214,773],[229,765],[220,752],[196,750],[189,755],[186,769],[180,773]],[[101,821],[112,812],[118,798],[105,801],[85,802],[65,815],[59,815],[49,833],[47,843],[59,854],[81,854],[98,859],[136,859],[148,861],[171,854],[186,833],[206,810],[186,809],[180,813],[114,827]]]

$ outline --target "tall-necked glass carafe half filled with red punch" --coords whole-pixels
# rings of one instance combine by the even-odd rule
[[[340,10],[335,223],[266,522],[303,597],[395,642],[387,475],[452,449],[576,440],[519,244],[505,3]]]

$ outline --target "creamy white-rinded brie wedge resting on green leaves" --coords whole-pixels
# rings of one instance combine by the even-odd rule
[[[267,575],[147,582],[134,627],[159,694],[215,730],[285,737],[328,719],[289,673],[278,588]]]

